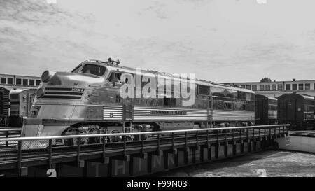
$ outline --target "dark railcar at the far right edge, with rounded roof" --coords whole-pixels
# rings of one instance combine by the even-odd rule
[[[314,97],[283,94],[278,97],[278,121],[289,123],[292,129],[314,128]]]

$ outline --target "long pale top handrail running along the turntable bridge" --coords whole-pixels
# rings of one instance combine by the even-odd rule
[[[205,132],[215,131],[224,129],[253,129],[261,127],[287,127],[290,124],[283,125],[257,125],[257,126],[246,126],[246,127],[219,127],[219,128],[207,128],[207,129],[181,129],[172,131],[160,131],[160,132],[135,132],[135,133],[119,133],[119,134],[81,134],[81,135],[64,135],[64,136],[28,136],[18,138],[5,138],[0,141],[34,141],[34,140],[48,140],[48,139],[75,139],[75,138],[92,138],[92,137],[103,137],[103,136],[128,136],[128,135],[143,135],[143,134],[169,134],[179,132]]]

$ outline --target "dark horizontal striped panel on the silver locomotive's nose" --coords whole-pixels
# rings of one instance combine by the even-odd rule
[[[83,92],[73,91],[69,87],[46,87],[43,98],[48,99],[81,99]]]

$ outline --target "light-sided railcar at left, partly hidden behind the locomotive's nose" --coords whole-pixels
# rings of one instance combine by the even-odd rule
[[[29,110],[36,96],[36,89],[10,90],[10,117],[11,127],[22,127],[23,117],[29,115]]]

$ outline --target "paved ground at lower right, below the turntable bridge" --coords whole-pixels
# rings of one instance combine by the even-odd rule
[[[267,150],[175,169],[160,177],[315,177],[315,154]]]

